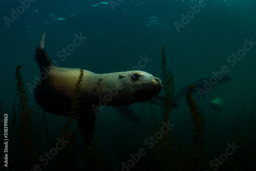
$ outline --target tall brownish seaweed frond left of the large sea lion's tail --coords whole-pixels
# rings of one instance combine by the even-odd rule
[[[17,96],[19,101],[19,117],[20,117],[20,155],[22,156],[22,160],[20,167],[22,169],[33,169],[33,165],[36,161],[36,152],[33,153],[32,141],[30,137],[30,129],[33,125],[31,119],[35,116],[32,113],[32,108],[29,108],[28,105],[28,95],[26,95],[24,89],[24,83],[22,80],[22,76],[20,75],[20,68],[22,66],[18,66],[16,68],[16,79],[17,79]]]

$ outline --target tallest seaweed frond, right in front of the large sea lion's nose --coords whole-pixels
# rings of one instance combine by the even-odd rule
[[[174,78],[172,73],[166,68],[166,57],[165,50],[166,46],[162,50],[162,81],[163,81],[163,90],[164,90],[164,100],[161,105],[162,112],[162,123],[169,124],[170,112],[173,110],[173,100],[174,100]],[[151,109],[152,111],[152,109]],[[152,118],[156,125],[156,121],[154,120],[154,116],[152,114]],[[169,130],[169,129],[168,129]],[[155,134],[158,132],[158,129],[154,128]],[[155,147],[155,157],[157,163],[158,170],[180,170],[180,164],[178,163],[177,153],[174,151],[173,140],[169,132],[163,134],[163,138],[159,139],[157,143],[157,147]]]

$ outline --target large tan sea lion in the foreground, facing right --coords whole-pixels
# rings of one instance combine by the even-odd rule
[[[46,112],[67,116],[80,69],[54,66],[45,50],[45,34],[35,51],[35,59],[40,72],[48,70],[47,76],[40,78],[34,97]],[[105,105],[125,105],[148,100],[159,94],[162,81],[143,71],[96,74],[82,70],[83,78],[79,90],[78,127],[84,140],[90,144],[95,131],[98,110]],[[41,75],[41,74],[40,74]]]

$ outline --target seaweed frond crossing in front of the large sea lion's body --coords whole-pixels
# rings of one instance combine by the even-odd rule
[[[79,78],[75,84],[75,89],[73,91],[72,101],[71,101],[71,110],[67,116],[66,123],[63,125],[62,137],[69,141],[69,144],[65,149],[60,151],[60,170],[76,170],[76,165],[74,165],[74,144],[76,136],[74,129],[71,130],[71,126],[74,125],[74,120],[78,118],[78,107],[79,107],[79,90],[81,88],[81,82],[83,78],[83,70],[80,69]]]

